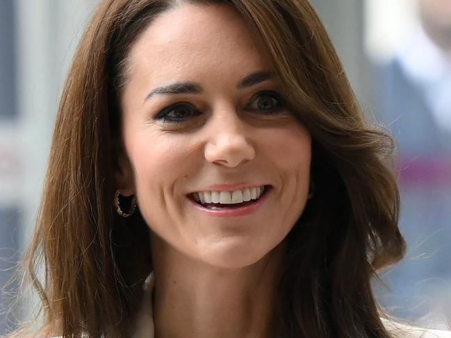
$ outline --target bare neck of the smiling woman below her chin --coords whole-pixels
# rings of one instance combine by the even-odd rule
[[[274,337],[283,244],[238,269],[195,261],[152,239],[155,337]]]

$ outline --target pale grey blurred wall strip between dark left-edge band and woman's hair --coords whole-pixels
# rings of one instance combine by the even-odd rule
[[[97,0],[15,0],[17,106],[24,181],[22,247],[35,221],[60,92],[72,55]]]

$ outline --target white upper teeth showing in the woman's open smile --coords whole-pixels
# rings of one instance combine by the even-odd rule
[[[233,192],[195,192],[192,198],[199,203],[236,204],[258,199],[265,187],[245,188]]]

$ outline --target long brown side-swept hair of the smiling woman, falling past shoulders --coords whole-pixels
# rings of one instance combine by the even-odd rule
[[[151,271],[149,228],[113,209],[120,89],[131,45],[177,0],[106,0],[76,51],[56,119],[42,204],[26,255],[42,332],[124,337]],[[280,337],[391,337],[370,287],[404,254],[391,137],[371,127],[307,0],[192,0],[233,6],[272,61],[313,140],[314,196],[288,235]],[[295,154],[293,154],[295,155]],[[44,280],[36,269],[43,260]]]

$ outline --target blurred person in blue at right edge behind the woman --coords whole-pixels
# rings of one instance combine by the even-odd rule
[[[402,315],[418,317],[427,312],[418,301],[437,305],[427,298],[443,299],[451,313],[451,1],[416,4],[418,27],[378,69],[377,102],[399,147],[400,228],[409,243],[407,260],[386,280],[407,301]]]

